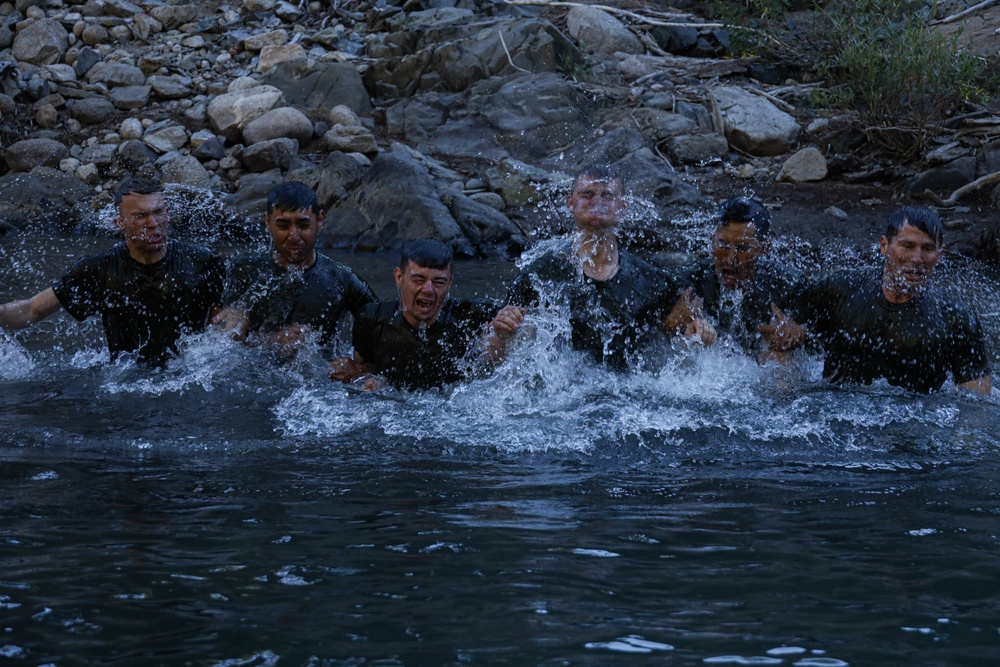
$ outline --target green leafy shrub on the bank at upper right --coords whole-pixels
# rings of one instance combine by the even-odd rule
[[[859,0],[827,12],[829,52],[814,101],[853,108],[868,136],[901,157],[923,150],[935,125],[966,100],[983,101],[986,62],[963,51],[899,0]]]

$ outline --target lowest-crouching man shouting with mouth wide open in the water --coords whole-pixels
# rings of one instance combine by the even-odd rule
[[[330,377],[366,390],[388,382],[429,389],[502,360],[502,340],[520,309],[449,298],[452,252],[433,239],[403,246],[393,270],[399,299],[369,304],[354,321],[354,358],[335,359]]]

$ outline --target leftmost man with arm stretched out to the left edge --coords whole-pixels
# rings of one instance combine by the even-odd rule
[[[205,328],[219,305],[225,266],[208,250],[167,240],[160,183],[126,178],[115,204],[125,242],[81,259],[34,297],[0,306],[0,326],[23,329],[60,308],[77,320],[100,313],[112,358],[134,353],[163,365],[182,334]]]

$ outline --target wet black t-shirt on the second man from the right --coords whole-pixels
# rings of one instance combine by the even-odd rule
[[[749,353],[759,354],[765,345],[758,328],[771,321],[771,304],[786,315],[795,316],[801,291],[800,276],[775,262],[761,260],[753,284],[746,289],[719,283],[711,259],[682,271],[681,282],[694,287],[704,300],[705,314],[715,320],[719,333],[733,336]]]

